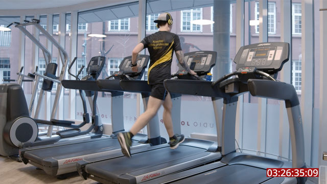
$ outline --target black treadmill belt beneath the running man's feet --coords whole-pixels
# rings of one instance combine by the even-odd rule
[[[125,174],[141,175],[208,154],[210,153],[202,148],[180,145],[177,149],[170,149],[168,145],[167,147],[132,154],[131,158],[123,156],[88,164],[85,166],[85,170],[88,174],[111,180]]]

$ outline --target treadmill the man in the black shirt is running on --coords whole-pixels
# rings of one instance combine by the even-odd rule
[[[185,60],[197,74],[206,74],[216,62],[216,52],[186,53]],[[181,76],[183,72],[185,71],[180,72]],[[184,74],[187,76],[187,72]],[[137,86],[146,83],[137,82],[132,85],[132,82],[121,81],[121,86],[126,90],[145,92],[137,89]],[[113,159],[84,159],[77,163],[77,167],[84,179],[91,178],[101,183],[140,183],[214,162],[221,157],[219,151],[220,148],[216,142],[185,138],[185,141],[174,150],[170,149],[168,144],[161,144],[140,149],[137,152],[131,150],[131,158],[124,156]]]

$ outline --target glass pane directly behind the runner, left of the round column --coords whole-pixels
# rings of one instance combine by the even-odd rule
[[[169,12],[173,18],[172,33],[179,36],[183,53],[194,51],[213,51],[213,25],[195,25],[192,20],[208,19],[213,20],[213,4],[207,2],[195,1],[180,3],[178,1],[171,2],[171,5],[159,6],[158,1],[147,2],[146,14],[146,36],[158,31],[156,24],[153,22],[162,12]],[[172,8],[173,7],[173,8]],[[230,61],[236,55],[236,6],[230,5]],[[149,54],[146,50],[146,54]],[[174,74],[178,70],[177,59],[174,54],[171,73]],[[230,70],[232,63],[230,62]],[[227,71],[228,73],[230,71]],[[215,74],[213,74],[215,75]],[[147,77],[147,76],[146,76]],[[182,95],[181,98],[181,120],[178,123],[181,126],[181,133],[190,136],[191,133],[208,133],[217,134],[215,114],[212,108],[212,100],[209,97]],[[194,108],[190,108],[194,107]],[[199,110],[205,109],[205,110]],[[160,134],[166,139],[168,134],[164,123],[162,122],[161,107],[158,112],[160,120]]]

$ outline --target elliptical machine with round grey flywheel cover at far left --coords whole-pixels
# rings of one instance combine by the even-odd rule
[[[69,65],[72,67],[74,61]],[[96,80],[99,77],[100,72],[105,63],[105,57],[98,56],[93,57],[87,67],[87,76],[82,80]],[[79,74],[81,73],[79,71]],[[79,75],[78,74],[78,75]],[[75,76],[78,79],[78,75]],[[78,82],[76,82],[78,83]],[[89,123],[88,113],[86,111],[85,98],[81,93],[80,95],[83,101],[83,123],[79,125],[73,125],[73,121],[54,120],[44,121],[35,120],[29,117],[29,109],[27,107],[24,91],[19,84],[6,83],[0,85],[0,155],[3,156],[15,156],[18,155],[18,148],[53,144],[60,139],[73,137],[77,135],[91,133],[91,138],[101,137],[103,134],[102,124],[99,123],[98,116],[95,111],[97,93],[93,91],[86,91],[87,97],[92,97],[92,125],[85,131],[81,131],[79,128]],[[56,132],[57,135],[52,137],[39,137],[37,123],[43,123],[48,125],[68,127],[72,129],[62,130]]]

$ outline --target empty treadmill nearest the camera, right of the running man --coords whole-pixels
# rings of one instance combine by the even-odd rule
[[[277,72],[289,60],[289,44],[256,43],[242,47],[234,62],[237,71],[214,83],[166,80],[172,93],[223,98],[222,155],[220,162],[160,177],[148,183],[305,183],[305,177],[266,177],[267,168],[305,168],[303,127],[298,97],[292,84],[276,80]],[[235,78],[230,78],[237,76]],[[195,90],[184,90],[193,86]],[[284,100],[290,127],[292,162],[236,152],[235,120],[238,96]]]

